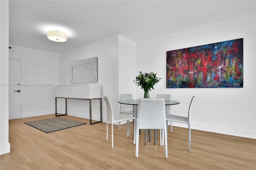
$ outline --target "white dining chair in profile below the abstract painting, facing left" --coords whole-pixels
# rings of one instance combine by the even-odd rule
[[[188,124],[188,150],[190,150],[190,141],[191,141],[191,133],[190,133],[190,117],[191,117],[191,108],[194,102],[195,96],[192,97],[189,107],[188,107],[188,116],[181,117],[176,115],[166,115],[166,124],[168,121],[178,122],[178,123],[185,123]]]

